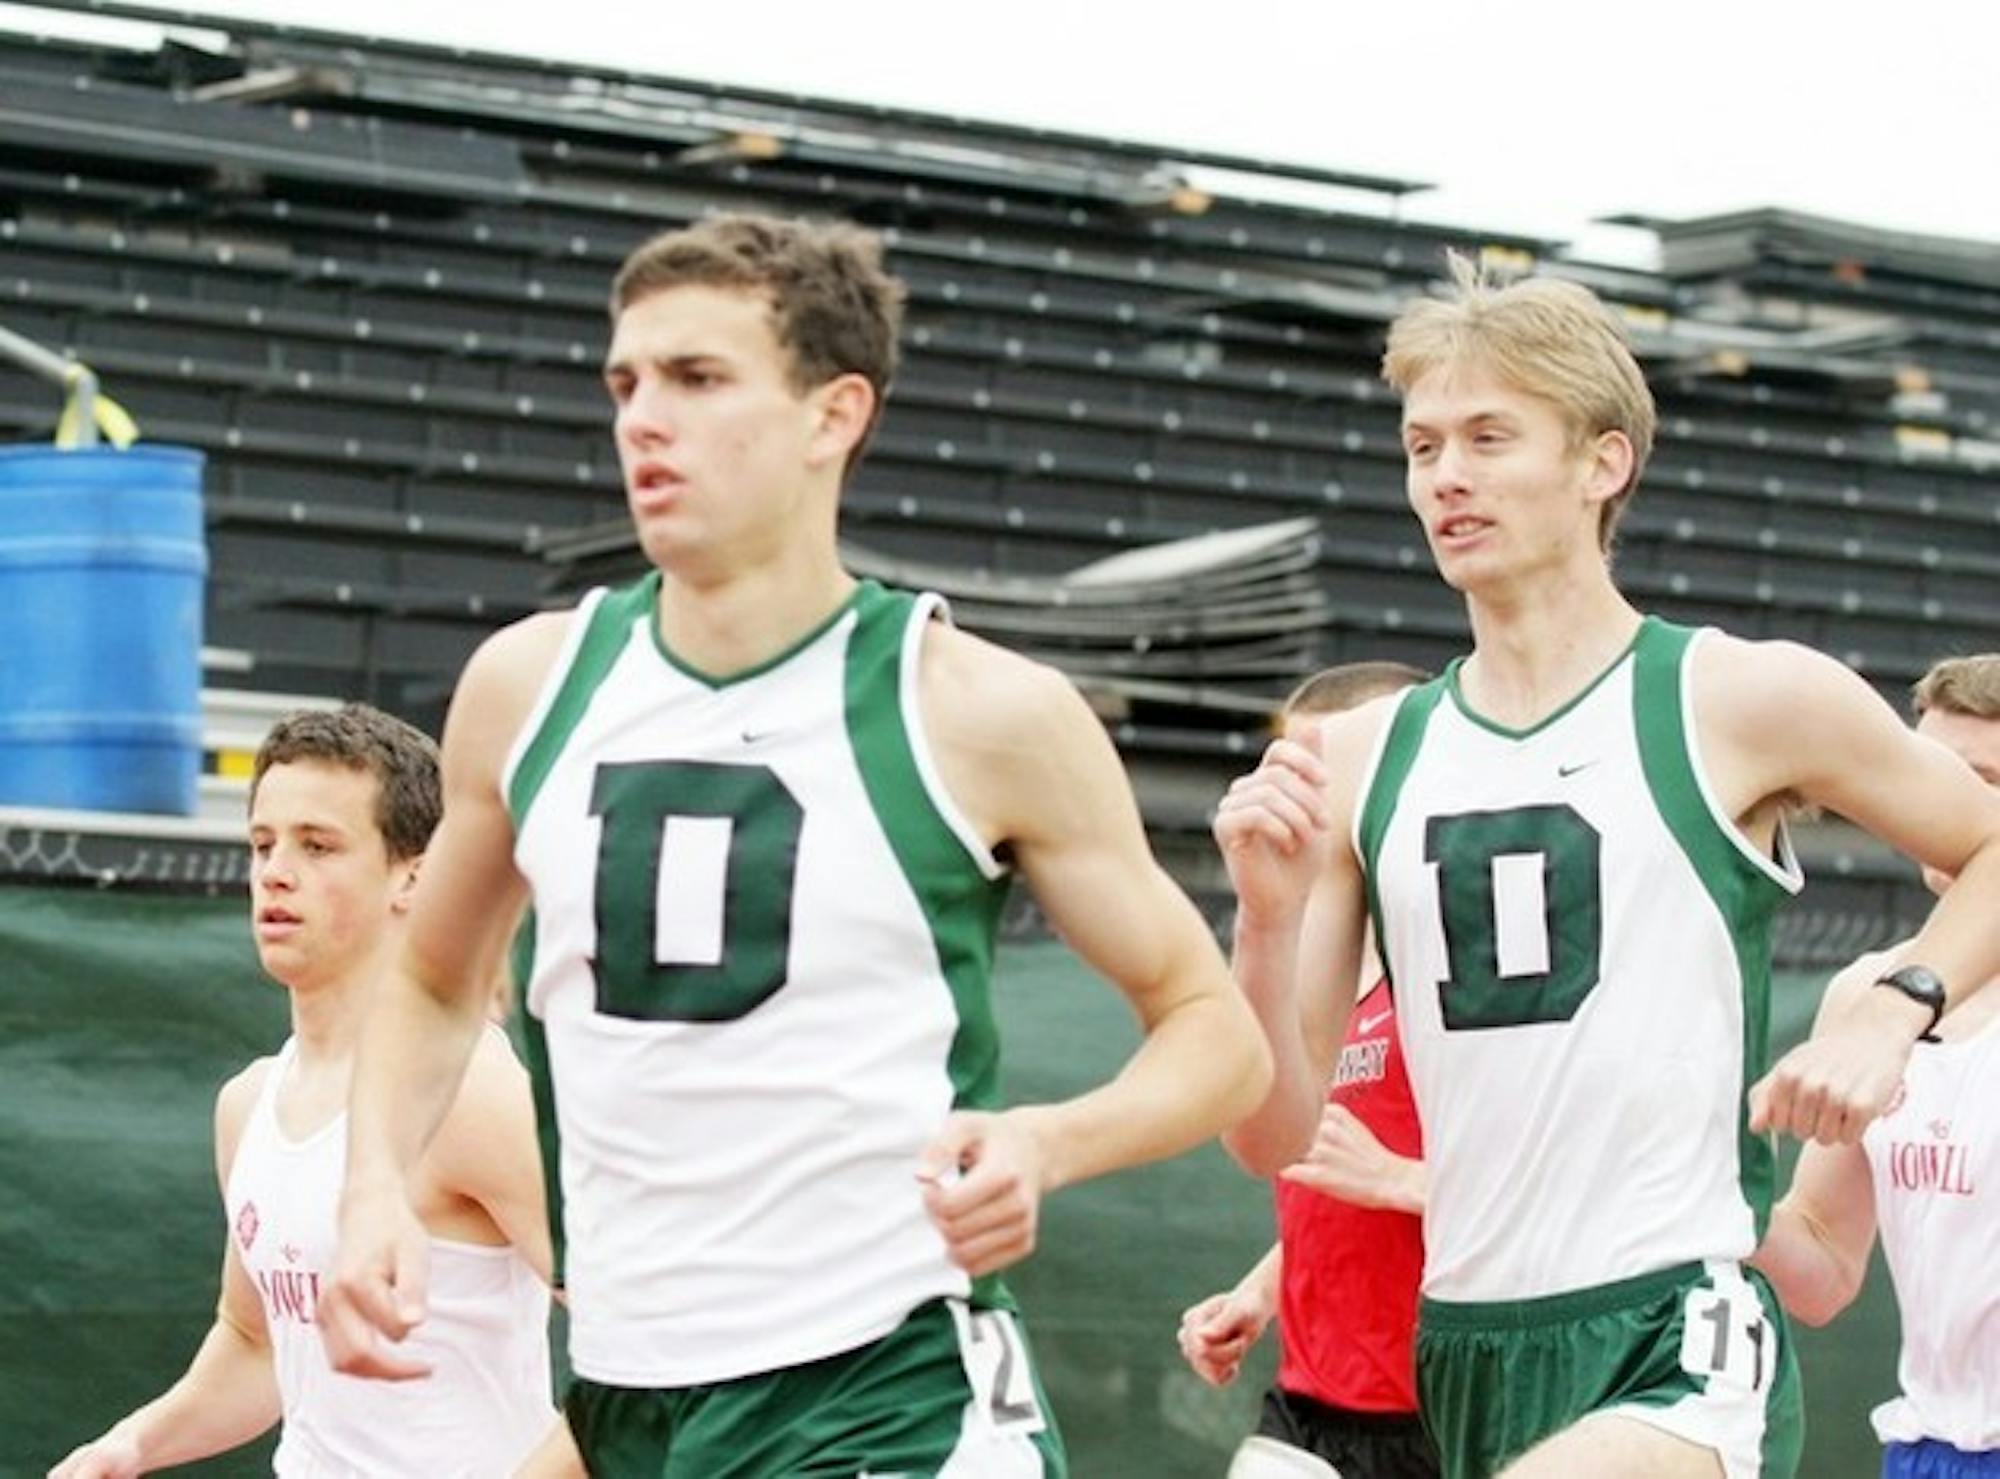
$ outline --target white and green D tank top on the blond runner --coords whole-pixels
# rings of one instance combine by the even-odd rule
[[[1770,917],[1802,877],[1702,769],[1690,662],[1648,618],[1532,730],[1458,664],[1370,759],[1354,845],[1424,1123],[1430,1299],[1534,1299],[1748,1257],[1772,1151]]]

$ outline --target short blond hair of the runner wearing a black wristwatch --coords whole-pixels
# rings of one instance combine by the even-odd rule
[[[1624,324],[1582,284],[1560,278],[1502,284],[1460,252],[1446,260],[1452,282],[1444,296],[1410,302],[1390,324],[1382,378],[1408,396],[1432,370],[1482,364],[1516,390],[1550,402],[1578,448],[1604,432],[1622,432],[1632,444],[1632,476],[1598,514],[1598,546],[1610,550],[1660,426]]]

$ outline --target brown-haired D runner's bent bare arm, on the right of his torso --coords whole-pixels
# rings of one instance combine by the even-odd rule
[[[924,722],[944,781],[1014,861],[1070,947],[1130,1001],[1144,1043],[1106,1085],[1002,1119],[1028,1131],[1036,1195],[1184,1151],[1248,1111],[1268,1057],[1200,913],[1154,861],[1118,755],[1074,688],[958,632],[928,634]],[[972,1129],[960,1119],[960,1133]],[[946,1137],[932,1165],[962,1147]],[[974,1175],[934,1187],[954,1253]],[[966,1213],[966,1215],[962,1215]],[[1032,1223],[1032,1219],[1030,1219]],[[966,1245],[970,1247],[970,1245]],[[1012,1261],[1032,1247],[996,1247]],[[998,1267],[974,1257],[974,1271]]]

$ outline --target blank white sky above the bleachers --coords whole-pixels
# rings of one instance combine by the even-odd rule
[[[1408,214],[1608,260],[1642,260],[1646,238],[1596,216],[1766,204],[2000,244],[1992,0],[190,8],[1430,180]],[[18,16],[0,4],[0,24]]]

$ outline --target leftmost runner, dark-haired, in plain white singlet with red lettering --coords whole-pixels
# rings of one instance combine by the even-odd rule
[[[486,1029],[418,1173],[430,1319],[408,1339],[426,1379],[362,1381],[326,1361],[346,1169],[346,1089],[366,991],[402,935],[438,819],[436,745],[348,706],[280,720],[250,791],[258,957],[292,1035],[216,1099],[226,1245],[216,1323],[156,1401],[56,1465],[126,1479],[248,1443],[282,1423],[284,1479],[490,1479],[548,1437],[548,1233],[528,1079]],[[496,961],[482,963],[492,979]]]

